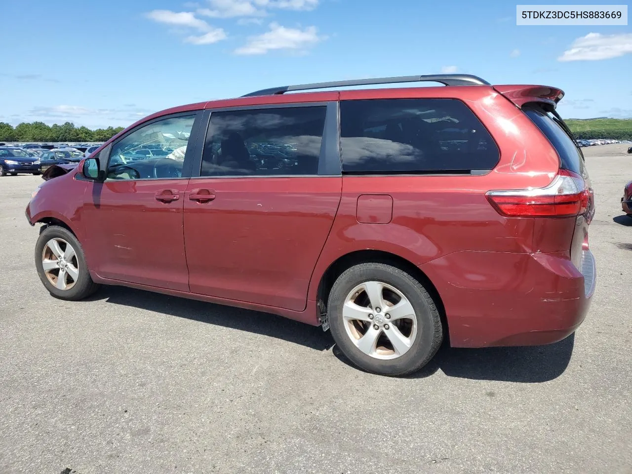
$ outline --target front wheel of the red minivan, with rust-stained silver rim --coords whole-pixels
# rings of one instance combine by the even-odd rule
[[[68,251],[68,246],[73,252]],[[56,263],[60,256],[61,264]],[[47,265],[47,270],[44,265]],[[73,233],[63,227],[48,226],[40,233],[35,245],[35,267],[44,287],[60,300],[82,300],[99,289],[99,285],[90,277],[81,244]],[[62,271],[64,280],[60,283],[59,275]],[[63,286],[66,288],[62,288]]]

